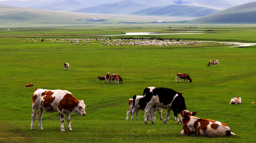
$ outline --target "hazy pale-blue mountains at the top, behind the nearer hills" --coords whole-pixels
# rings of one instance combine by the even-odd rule
[[[92,14],[201,17],[255,0],[3,0],[0,4]]]

